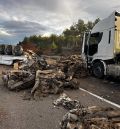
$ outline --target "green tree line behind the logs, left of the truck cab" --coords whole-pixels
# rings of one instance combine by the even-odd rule
[[[96,23],[100,21],[97,18],[94,22],[79,19],[77,23],[74,23],[69,28],[65,29],[62,34],[51,34],[47,36],[33,35],[25,37],[22,42],[19,42],[24,49],[33,49],[34,51],[51,51],[59,53],[63,48],[81,48],[83,34],[85,31],[90,31]]]

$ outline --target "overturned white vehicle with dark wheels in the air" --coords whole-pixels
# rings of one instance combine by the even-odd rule
[[[12,65],[16,61],[24,61],[23,49],[20,45],[0,45],[0,64]]]

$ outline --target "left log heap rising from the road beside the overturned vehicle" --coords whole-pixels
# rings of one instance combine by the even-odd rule
[[[29,52],[30,53],[30,52]],[[22,90],[32,88],[35,84],[35,74],[38,69],[45,69],[47,63],[42,57],[35,53],[27,53],[28,59],[18,62],[17,67],[11,71],[3,71],[3,82],[9,90]],[[15,64],[15,66],[16,66]]]

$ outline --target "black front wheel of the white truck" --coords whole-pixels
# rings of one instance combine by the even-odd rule
[[[104,77],[104,66],[101,62],[96,62],[93,64],[92,67],[93,75],[97,78],[103,78]]]

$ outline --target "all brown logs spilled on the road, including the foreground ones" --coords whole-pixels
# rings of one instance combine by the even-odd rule
[[[78,78],[88,75],[85,63],[79,55],[61,57],[53,67],[35,53],[26,54],[28,60],[12,71],[3,72],[4,85],[10,90],[32,87],[30,92],[36,96],[58,94],[65,88],[79,88]],[[52,65],[52,64],[51,64]],[[51,69],[52,68],[52,69]],[[83,107],[79,101],[62,94],[54,101],[55,106],[69,110],[63,116],[61,129],[120,129],[120,111],[112,108]]]

